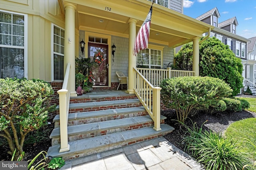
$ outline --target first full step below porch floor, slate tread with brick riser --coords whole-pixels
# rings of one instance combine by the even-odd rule
[[[139,107],[142,106],[140,100],[111,100],[102,102],[87,102],[87,103],[74,103],[69,105],[69,113],[98,111],[106,109],[126,108],[126,107]],[[57,114],[59,113],[59,106],[56,107]]]

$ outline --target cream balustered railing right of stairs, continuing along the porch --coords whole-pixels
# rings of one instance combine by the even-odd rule
[[[180,76],[194,76],[194,71],[134,68],[134,93],[154,121],[154,128],[160,131],[160,83],[162,80]]]

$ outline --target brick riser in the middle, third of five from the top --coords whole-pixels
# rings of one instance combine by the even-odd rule
[[[128,117],[137,117],[137,116],[144,116],[148,115],[146,111],[142,112],[134,112],[134,113],[123,113],[123,114],[118,114],[118,115],[106,115],[106,116],[101,116],[101,117],[88,117],[88,118],[82,118],[82,119],[73,119],[68,121],[68,126],[73,126],[73,125],[82,125],[86,123],[95,123],[95,122],[100,122],[100,121],[109,121],[109,120],[115,120],[115,119],[123,119],[123,118],[128,118]],[[60,121],[54,122],[54,127],[58,128],[60,127]]]

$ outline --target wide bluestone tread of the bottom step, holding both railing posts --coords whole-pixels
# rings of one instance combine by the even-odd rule
[[[145,127],[140,129],[134,129],[130,131],[122,131],[117,133],[112,133],[108,135],[92,137],[87,139],[81,139],[74,142],[69,142],[70,150],[65,152],[60,152],[60,145],[52,146],[48,149],[48,154],[54,157],[61,157],[67,155],[74,155],[81,152],[90,152],[92,150],[98,150],[101,148],[107,148],[120,143],[127,143],[129,141],[134,141],[137,139],[144,139],[153,135],[160,135],[163,133],[169,133],[174,130],[173,127],[162,124],[161,131],[155,131],[152,127]]]

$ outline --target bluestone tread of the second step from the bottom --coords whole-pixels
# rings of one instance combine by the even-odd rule
[[[165,116],[161,115],[161,119],[166,119]],[[150,115],[138,116],[138,117],[128,117],[124,119],[115,119],[109,121],[101,121],[95,123],[87,123],[82,125],[68,126],[68,135],[76,135],[81,133],[92,133],[94,131],[104,131],[107,129],[114,129],[119,127],[126,127],[132,125],[143,124],[151,122],[152,119]],[[60,128],[55,128],[52,130],[50,139],[60,137]]]

